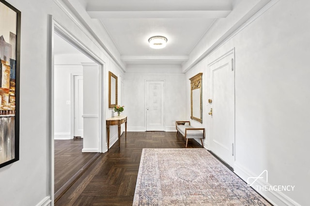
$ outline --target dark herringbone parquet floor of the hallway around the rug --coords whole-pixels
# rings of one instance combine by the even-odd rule
[[[66,191],[55,206],[132,206],[142,148],[184,148],[176,132],[127,132]],[[189,140],[187,147],[202,147]]]

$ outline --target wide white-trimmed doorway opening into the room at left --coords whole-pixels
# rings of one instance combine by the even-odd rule
[[[57,202],[102,152],[104,78],[103,64],[55,19],[51,22],[50,181]]]

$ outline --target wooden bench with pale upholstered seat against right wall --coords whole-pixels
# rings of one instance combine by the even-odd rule
[[[187,123],[187,124],[186,124]],[[202,142],[203,147],[203,141],[204,139],[204,128],[195,128],[190,126],[190,121],[176,121],[175,122],[175,129],[176,129],[176,135],[181,133],[185,139],[186,139],[186,146],[188,139],[200,139]]]

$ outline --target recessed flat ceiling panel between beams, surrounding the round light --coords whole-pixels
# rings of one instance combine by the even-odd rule
[[[189,54],[215,19],[102,19],[122,55],[184,55]],[[165,36],[167,46],[152,49],[148,39]]]

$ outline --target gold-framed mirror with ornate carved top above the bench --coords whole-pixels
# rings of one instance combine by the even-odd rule
[[[202,123],[202,73],[190,79],[190,118]]]

